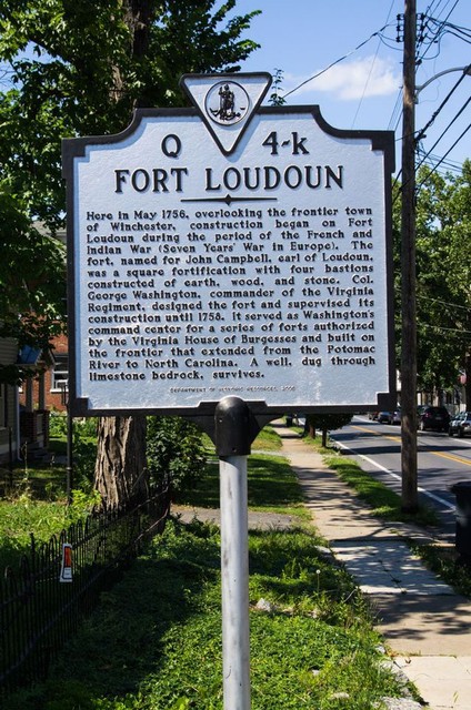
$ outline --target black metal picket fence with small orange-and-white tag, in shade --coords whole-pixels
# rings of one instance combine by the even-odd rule
[[[47,677],[49,663],[146,538],[161,534],[168,484],[140,504],[91,514],[8,567],[0,580],[0,701]]]

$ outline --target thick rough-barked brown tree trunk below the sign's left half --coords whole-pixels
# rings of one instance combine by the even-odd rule
[[[94,487],[104,508],[146,499],[146,416],[100,417]]]

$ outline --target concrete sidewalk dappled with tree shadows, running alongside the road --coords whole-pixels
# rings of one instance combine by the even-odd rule
[[[394,662],[431,710],[471,710],[471,602],[429,572],[401,535],[418,528],[374,519],[322,457],[274,425],[312,520],[378,613]]]

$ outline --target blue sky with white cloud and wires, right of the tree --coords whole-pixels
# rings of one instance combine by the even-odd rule
[[[403,42],[397,41],[397,16],[403,16],[404,0],[237,0],[234,13],[252,10],[262,12],[244,36],[261,48],[243,62],[242,71],[273,75],[280,70],[280,95],[285,94],[287,104],[318,104],[334,128],[394,131],[399,170]],[[465,132],[471,123],[471,102],[465,105],[471,77],[462,78],[461,71],[471,64],[470,2],[417,0],[417,11],[432,18],[419,45],[417,85],[445,70],[460,69],[433,79],[418,92],[415,128],[420,132],[427,126],[419,162],[435,165],[444,158],[439,172],[459,170],[471,158],[471,129]]]

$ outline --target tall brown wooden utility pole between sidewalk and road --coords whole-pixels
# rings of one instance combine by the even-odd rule
[[[401,471],[402,509],[408,513],[414,513],[419,507],[417,466],[415,43],[417,3],[415,0],[405,0],[401,219]]]

